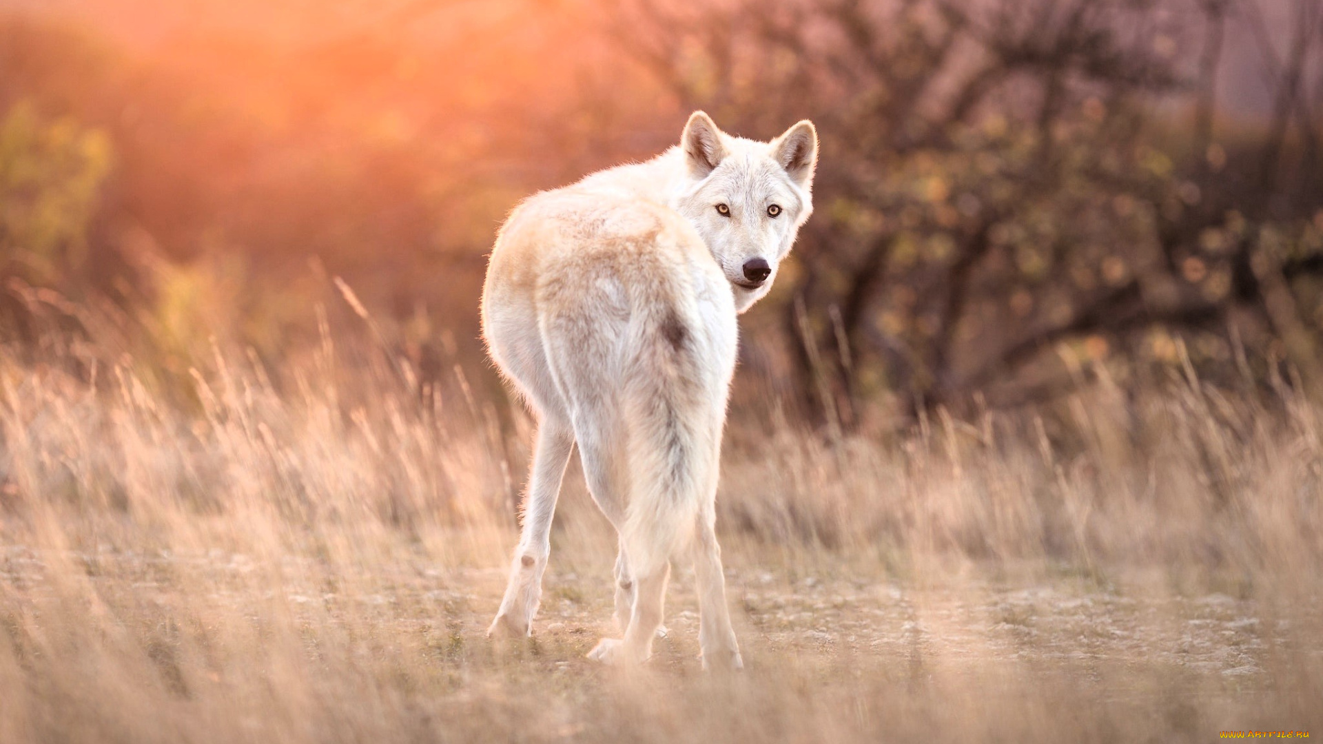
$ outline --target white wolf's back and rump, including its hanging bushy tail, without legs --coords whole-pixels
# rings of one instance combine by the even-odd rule
[[[557,380],[550,408],[581,447],[610,450],[631,572],[656,571],[710,510],[734,355],[729,285],[677,213],[611,193],[538,195],[499,242],[517,259],[493,253],[493,270],[517,278]]]

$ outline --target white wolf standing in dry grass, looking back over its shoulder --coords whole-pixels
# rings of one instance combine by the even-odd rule
[[[771,142],[689,116],[680,146],[529,197],[492,248],[483,335],[537,417],[509,586],[488,635],[527,635],[552,514],[578,445],[589,490],[619,532],[623,639],[589,654],[648,658],[669,560],[692,549],[705,667],[741,667],[716,522],[736,315],[767,293],[812,210],[818,132]]]

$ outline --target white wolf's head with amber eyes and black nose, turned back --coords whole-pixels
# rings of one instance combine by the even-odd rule
[[[814,210],[818,131],[802,120],[771,142],[732,136],[703,111],[680,135],[692,183],[676,209],[721,265],[740,312],[771,289],[799,226]]]

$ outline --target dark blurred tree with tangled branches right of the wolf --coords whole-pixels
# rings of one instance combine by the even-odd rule
[[[819,212],[778,294],[792,389],[849,425],[880,393],[913,414],[1061,389],[1062,343],[1151,359],[1207,334],[1218,363],[1281,340],[1311,369],[1318,291],[1291,281],[1323,269],[1320,4],[1291,4],[1285,57],[1261,42],[1273,119],[1233,142],[1216,75],[1252,0],[630,0],[613,29],[733,131],[818,122]]]

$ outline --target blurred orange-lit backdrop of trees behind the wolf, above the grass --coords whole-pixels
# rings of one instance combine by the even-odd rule
[[[277,356],[318,303],[361,324],[341,277],[452,376],[511,205],[701,107],[819,124],[818,214],[744,348],[823,422],[1183,348],[1225,384],[1323,384],[1323,0],[89,7],[0,16],[4,271],[114,297],[171,348]],[[1263,113],[1233,118],[1250,61]]]

